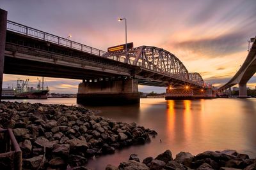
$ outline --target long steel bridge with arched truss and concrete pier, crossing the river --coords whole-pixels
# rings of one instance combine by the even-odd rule
[[[1,87],[3,73],[79,79],[83,82],[77,103],[106,103],[109,99],[138,103],[138,85],[166,87],[171,97],[175,91],[184,97],[207,88],[200,74],[189,73],[175,55],[162,48],[140,46],[126,53],[108,53],[7,21],[7,12],[0,11]]]

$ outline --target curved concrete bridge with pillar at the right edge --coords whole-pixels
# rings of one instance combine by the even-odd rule
[[[252,38],[252,47],[250,48],[243,65],[236,72],[236,74],[227,82],[225,85],[218,89],[220,95],[223,95],[225,90],[231,92],[231,87],[239,85],[239,97],[247,97],[246,83],[252,78],[253,74],[256,73],[256,38]]]

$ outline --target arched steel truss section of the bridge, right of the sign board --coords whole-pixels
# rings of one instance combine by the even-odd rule
[[[129,49],[126,53],[125,51],[105,53],[103,57],[138,66],[133,76],[141,85],[204,87],[204,80],[200,74],[189,73],[175,55],[163,48],[139,46]]]

